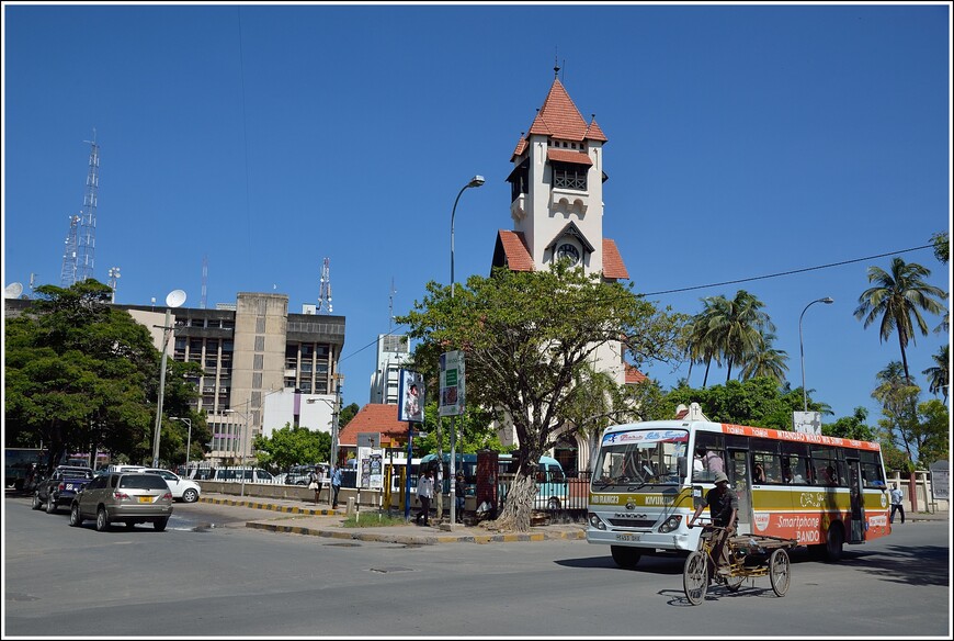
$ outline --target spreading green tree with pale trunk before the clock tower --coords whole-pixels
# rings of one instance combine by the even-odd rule
[[[497,525],[525,531],[540,457],[561,437],[575,395],[586,393],[573,385],[580,371],[609,341],[622,341],[637,367],[675,360],[683,319],[622,283],[558,262],[547,271],[474,275],[454,296],[431,282],[424,300],[397,322],[418,340],[419,369],[436,370],[442,352],[463,350],[468,404],[492,411],[516,432],[519,468]]]

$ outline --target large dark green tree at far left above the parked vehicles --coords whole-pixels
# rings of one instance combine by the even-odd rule
[[[68,289],[41,285],[36,295],[5,324],[7,442],[42,442],[50,465],[69,451],[145,460],[160,360],[148,329],[110,305],[112,290],[92,279]],[[175,385],[171,391],[186,400]],[[161,458],[171,460],[175,439],[162,446]]]

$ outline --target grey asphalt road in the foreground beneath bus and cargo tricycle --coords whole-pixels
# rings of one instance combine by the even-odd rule
[[[3,638],[951,636],[950,522],[909,522],[839,564],[793,554],[691,606],[682,560],[615,566],[586,541],[400,546],[251,530],[257,510],[177,504],[169,529],[70,528],[4,501]],[[251,516],[250,516],[251,515]]]

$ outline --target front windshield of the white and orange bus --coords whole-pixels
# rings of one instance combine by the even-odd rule
[[[634,492],[649,484],[678,485],[685,476],[689,431],[632,429],[603,436],[592,484]]]

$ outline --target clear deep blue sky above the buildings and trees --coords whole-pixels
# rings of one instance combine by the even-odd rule
[[[4,285],[59,284],[95,127],[94,278],[121,268],[118,303],[183,289],[198,307],[205,258],[208,307],[274,291],[300,312],[327,257],[345,403],[368,401],[391,286],[400,315],[428,281],[450,282],[451,209],[476,173],[455,280],[489,273],[511,228],[510,156],[555,61],[609,138],[604,234],[636,291],[689,314],[703,296],[756,294],[793,387],[799,315],[832,296],[805,314],[802,345],[806,385],[836,416],[864,406],[873,423],[875,374],[900,359],[896,337],[852,315],[868,266],[897,255],[950,290],[930,249],[900,252],[950,229],[947,3],[3,12]],[[742,279],[758,280],[715,285]],[[916,338],[923,382],[949,336]],[[688,367],[644,370],[668,387]]]

